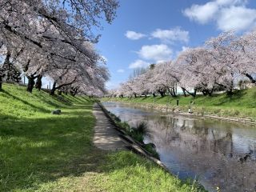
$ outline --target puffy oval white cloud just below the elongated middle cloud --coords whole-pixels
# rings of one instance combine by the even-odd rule
[[[170,60],[173,54],[168,46],[153,45],[153,46],[142,46],[141,50],[138,51],[138,55],[146,60],[154,60],[154,62]]]

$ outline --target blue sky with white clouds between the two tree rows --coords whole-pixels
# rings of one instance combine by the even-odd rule
[[[255,0],[120,0],[117,18],[103,23],[97,49],[107,60],[110,82],[125,82],[134,67],[174,60],[186,47],[202,46],[226,30],[256,26]]]

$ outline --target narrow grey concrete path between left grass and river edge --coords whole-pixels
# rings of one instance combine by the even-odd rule
[[[94,127],[94,145],[102,150],[125,150],[126,143],[118,136],[118,130],[114,129],[97,103],[94,104],[93,114],[97,119]]]

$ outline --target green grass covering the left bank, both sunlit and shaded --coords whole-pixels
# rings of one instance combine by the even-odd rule
[[[0,191],[198,191],[128,151],[93,146],[91,101],[4,85],[0,92]],[[61,115],[50,114],[62,109]]]

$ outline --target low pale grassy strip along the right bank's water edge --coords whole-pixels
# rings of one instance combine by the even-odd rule
[[[147,98],[146,98],[147,99]],[[241,123],[248,123],[251,125],[256,125],[256,114],[254,114],[254,108],[243,108],[241,110],[237,109],[236,107],[228,107],[226,106],[198,106],[195,105],[194,102],[188,102],[191,103],[189,105],[174,105],[174,103],[166,102],[165,104],[157,103],[157,102],[149,102],[146,101],[140,101],[140,100],[134,100],[134,98],[103,98],[102,102],[122,102],[124,104],[132,105],[132,106],[138,106],[141,108],[146,108],[149,110],[159,110],[162,112],[169,112],[173,114],[182,114],[182,115],[188,115],[188,116],[197,116],[200,118],[213,118],[213,119],[220,119],[225,120],[229,122],[241,122]],[[176,101],[177,102],[177,101]],[[183,101],[184,102],[184,101]],[[179,102],[177,102],[178,104]],[[246,109],[246,112],[244,110]],[[238,112],[239,110],[239,112]],[[248,111],[251,110],[250,116],[246,116]],[[191,113],[190,113],[191,112]],[[239,115],[238,115],[239,114]],[[254,117],[251,117],[254,116]]]

